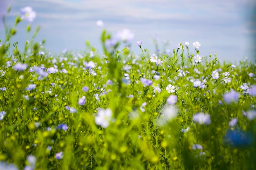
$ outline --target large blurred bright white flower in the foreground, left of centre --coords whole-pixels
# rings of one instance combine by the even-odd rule
[[[110,108],[100,109],[98,111],[97,116],[95,117],[95,123],[97,125],[102,126],[103,128],[107,128],[109,126],[111,117],[112,117],[112,110]]]

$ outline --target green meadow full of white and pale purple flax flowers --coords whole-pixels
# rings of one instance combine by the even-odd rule
[[[34,18],[21,9],[0,40],[0,170],[256,169],[256,64],[196,41],[136,55],[128,29],[103,30],[103,54],[52,55],[38,27],[20,51]]]

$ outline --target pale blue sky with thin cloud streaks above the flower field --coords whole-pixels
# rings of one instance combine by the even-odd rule
[[[193,50],[192,43],[198,41],[201,55],[208,56],[211,51],[220,60],[230,61],[255,57],[254,0],[0,0],[0,14],[7,4],[11,4],[10,26],[20,8],[30,6],[36,11],[32,31],[40,25],[36,40],[45,38],[45,48],[54,53],[85,50],[86,40],[101,49],[103,28],[96,22],[102,20],[110,33],[123,29],[135,33],[131,49],[137,54],[137,40],[154,53],[153,35],[157,35],[159,46],[171,42],[167,48],[171,51],[185,41]],[[13,42],[29,40],[27,24],[24,20],[16,27]],[[2,23],[0,39],[4,39]]]

